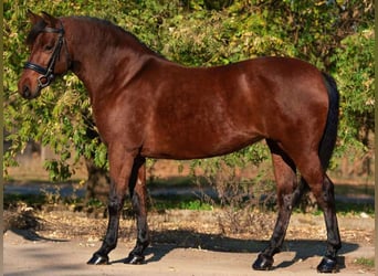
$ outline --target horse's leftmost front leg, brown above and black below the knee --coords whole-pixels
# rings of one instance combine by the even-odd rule
[[[122,155],[122,149],[109,148],[111,191],[108,202],[108,224],[102,246],[87,262],[90,265],[108,264],[108,254],[117,246],[119,216],[124,206],[125,194],[129,183],[134,157]]]

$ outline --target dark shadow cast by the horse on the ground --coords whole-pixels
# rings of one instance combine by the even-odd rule
[[[269,241],[233,238],[218,234],[204,234],[189,230],[168,230],[151,231],[151,245],[146,248],[145,263],[155,263],[162,259],[166,255],[176,248],[201,248],[212,252],[223,253],[252,253],[259,254],[263,251]],[[346,254],[358,250],[356,243],[343,243],[339,254]],[[300,259],[306,261],[309,257],[323,257],[326,248],[326,242],[319,240],[287,240],[283,244],[282,252],[294,252],[292,261],[285,261],[276,264],[275,268],[288,267]],[[111,264],[124,263],[126,258],[116,259]],[[345,268],[345,257],[338,256],[338,267]]]

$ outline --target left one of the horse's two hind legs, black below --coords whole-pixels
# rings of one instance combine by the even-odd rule
[[[281,251],[292,209],[304,192],[305,182],[297,185],[296,168],[292,159],[274,141],[267,140],[272,152],[274,174],[277,185],[279,216],[269,246],[259,254],[252,267],[256,270],[270,269],[274,254]]]

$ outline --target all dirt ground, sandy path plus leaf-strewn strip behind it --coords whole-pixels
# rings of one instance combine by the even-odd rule
[[[149,215],[153,244],[146,264],[123,264],[135,238],[134,221],[124,219],[118,246],[109,254],[112,264],[90,266],[86,261],[101,245],[106,219],[71,211],[29,215],[23,219],[33,229],[11,227],[3,235],[4,275],[318,275],[316,266],[325,251],[323,216],[294,214],[273,270],[254,272],[251,264],[266,245],[275,214],[254,213],[249,223],[242,217],[245,229],[231,233],[223,211],[168,211]],[[374,267],[356,263],[375,256],[374,219],[340,216],[339,226],[340,273],[375,275]]]

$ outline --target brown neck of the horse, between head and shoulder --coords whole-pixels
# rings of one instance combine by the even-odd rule
[[[141,63],[154,56],[117,26],[85,18],[67,18],[63,24],[72,71],[84,83],[92,100],[116,91],[117,83],[127,83]]]

